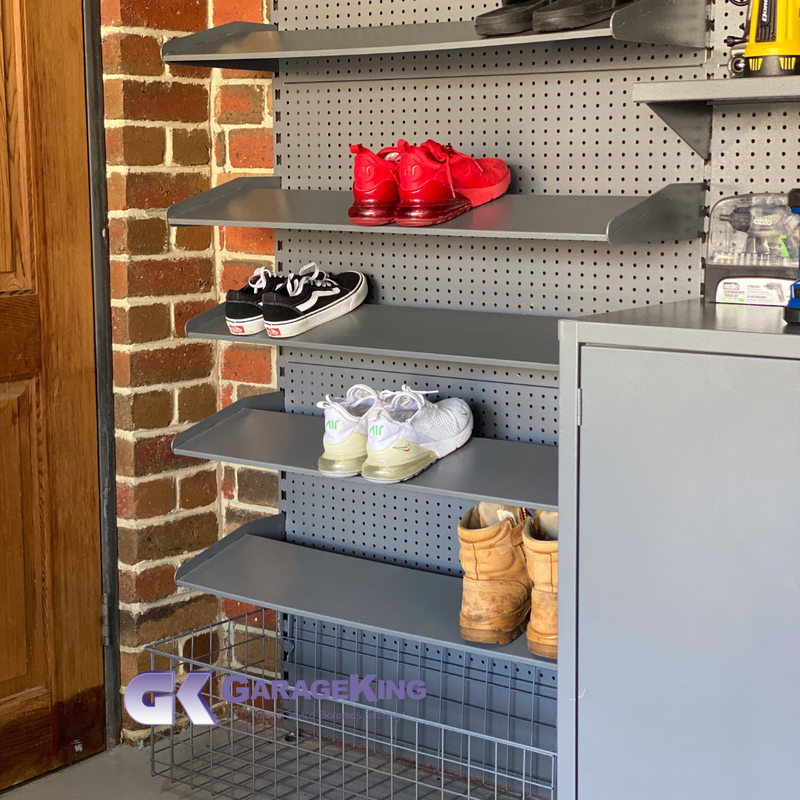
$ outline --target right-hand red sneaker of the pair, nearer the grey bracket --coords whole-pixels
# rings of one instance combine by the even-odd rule
[[[499,158],[472,158],[428,139],[412,147],[402,139],[398,225],[436,225],[500,197],[511,172]]]

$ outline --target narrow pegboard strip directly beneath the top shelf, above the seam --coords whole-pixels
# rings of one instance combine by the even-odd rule
[[[589,39],[545,42],[480,50],[447,50],[380,56],[298,59],[281,73],[286,83],[336,80],[430,78],[469,79],[487,74],[581,72],[691,66],[702,68],[704,50],[684,50],[654,44]]]

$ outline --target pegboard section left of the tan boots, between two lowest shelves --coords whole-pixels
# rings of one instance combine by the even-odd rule
[[[286,538],[412,569],[461,575],[458,523],[475,503],[291,472],[281,473]],[[475,502],[480,498],[475,498]]]

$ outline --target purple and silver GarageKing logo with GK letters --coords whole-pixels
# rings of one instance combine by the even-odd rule
[[[348,680],[314,681],[308,686],[297,681],[261,681],[228,675],[222,682],[221,694],[229,703],[247,703],[265,700],[345,700],[365,701],[422,700],[425,697],[424,681],[376,681],[377,675],[350,675]],[[174,725],[175,700],[179,700],[186,716],[194,725],[216,725],[217,718],[203,697],[203,690],[211,678],[210,670],[190,672],[175,692],[175,673],[167,671],[142,672],[125,689],[125,709],[142,725]],[[374,683],[373,683],[374,682]],[[152,695],[148,701],[146,696]]]

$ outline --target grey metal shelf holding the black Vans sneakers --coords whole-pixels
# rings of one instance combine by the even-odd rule
[[[234,336],[225,305],[189,320],[193,339],[429,358],[533,370],[558,369],[558,317],[366,304],[291,339]]]

